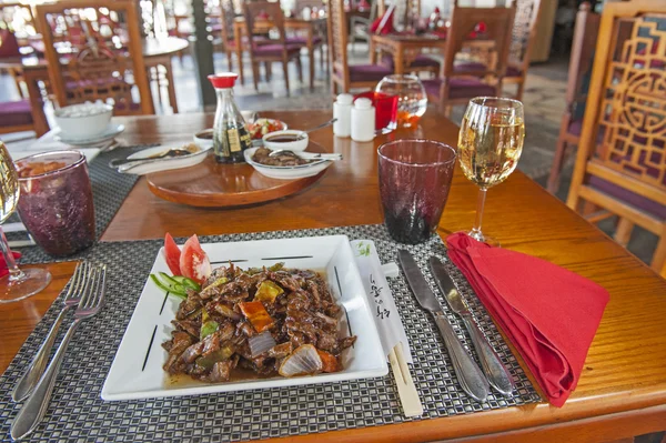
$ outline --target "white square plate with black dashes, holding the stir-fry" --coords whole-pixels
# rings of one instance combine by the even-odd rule
[[[209,394],[250,389],[293,386],[337,382],[389,373],[386,356],[375,322],[370,311],[363,283],[356,269],[354,254],[346,235],[311,236],[202,244],[213,268],[233,261],[243,269],[269,266],[284,262],[286,268],[324,271],[333,296],[344,308],[341,324],[346,334],[356,335],[356,342],[343,353],[344,370],[312,376],[259,379],[210,384],[188,379],[172,384],[162,370],[167,351],[161,346],[171,338],[171,321],[180,299],[169,296],[148,278],[137,303],[130,324],[107,375],[102,399],[133,400],[172,395]],[[160,250],[151,272],[170,273]]]

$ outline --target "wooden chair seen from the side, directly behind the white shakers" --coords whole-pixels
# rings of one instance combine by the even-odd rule
[[[331,91],[334,95],[351,89],[374,89],[393,69],[382,64],[347,63],[347,21],[343,0],[329,1],[329,51]]]

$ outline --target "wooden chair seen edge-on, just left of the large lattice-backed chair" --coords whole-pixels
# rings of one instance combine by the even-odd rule
[[[583,114],[587,100],[587,87],[592,73],[594,48],[599,32],[601,16],[592,11],[589,2],[583,2],[576,16],[572,56],[569,59],[568,82],[566,85],[566,109],[559,124],[559,138],[555,158],[548,175],[547,189],[556,193],[559,189],[559,175],[567,151],[578,145],[583,130]]]

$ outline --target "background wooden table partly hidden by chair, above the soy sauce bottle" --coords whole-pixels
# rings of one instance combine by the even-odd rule
[[[254,20],[255,32],[268,32],[273,28],[271,20],[259,19]],[[326,34],[326,18],[315,19],[303,19],[297,17],[285,17],[284,18],[284,31],[295,32],[305,36],[305,48],[307,48],[307,58],[310,60],[310,84],[314,82],[314,47],[315,37]],[[243,41],[245,36],[245,19],[243,17],[236,17],[233,21],[233,41]],[[323,37],[322,37],[323,38]],[[236,60],[239,61],[239,77],[241,84],[245,84],[245,77],[243,75],[243,51],[245,48],[243,44],[235,44]],[[326,59],[326,56],[322,58],[322,63]]]

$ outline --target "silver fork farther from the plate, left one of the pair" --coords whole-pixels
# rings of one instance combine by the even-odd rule
[[[47,339],[40,346],[39,351],[37,351],[37,354],[32,359],[32,362],[30,363],[21,379],[18,381],[17,385],[14,386],[11,393],[11,399],[14,402],[20,402],[21,400],[30,395],[30,393],[37,385],[37,382],[44,373],[44,369],[47,368],[49,355],[51,354],[51,349],[53,349],[53,343],[56,342],[56,336],[58,335],[60,324],[62,323],[67,311],[69,311],[70,308],[74,308],[79,304],[79,301],[81,300],[81,295],[83,293],[83,284],[88,279],[89,271],[90,265],[88,264],[88,262],[81,262],[77,265],[77,270],[72,275],[69,290],[67,291],[67,294],[62,300],[63,308],[60,311],[60,314],[58,314],[58,318],[51,326]]]

